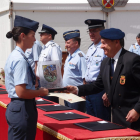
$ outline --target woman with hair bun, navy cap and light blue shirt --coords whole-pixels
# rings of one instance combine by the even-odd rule
[[[35,97],[48,95],[48,90],[35,90],[35,75],[25,56],[27,48],[35,42],[39,23],[25,17],[15,16],[14,28],[7,38],[16,42],[5,65],[5,86],[11,98],[6,110],[8,140],[35,140],[37,109]]]

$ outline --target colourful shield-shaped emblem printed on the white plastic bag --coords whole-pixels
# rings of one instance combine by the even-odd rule
[[[43,65],[42,67],[45,80],[54,82],[57,79],[56,65]]]

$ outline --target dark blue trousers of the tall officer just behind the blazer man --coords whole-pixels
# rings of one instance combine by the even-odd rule
[[[111,107],[105,107],[103,104],[102,96],[104,93],[105,91],[102,91],[86,96],[86,110],[89,115],[111,121]]]

